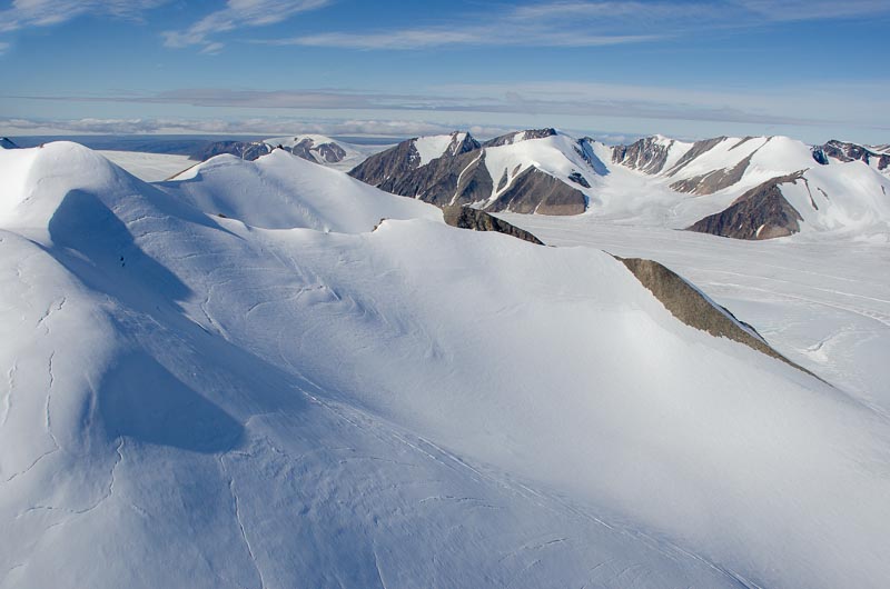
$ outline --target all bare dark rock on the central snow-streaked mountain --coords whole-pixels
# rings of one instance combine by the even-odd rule
[[[523,140],[526,140],[551,137],[556,131],[520,131],[485,143],[479,143],[469,133],[452,133],[452,142],[445,152],[423,166],[415,140],[411,139],[372,156],[349,174],[387,192],[421,199],[437,207],[479,203],[492,197],[495,187],[495,180],[485,166],[486,147],[511,144],[521,133],[525,133]],[[595,158],[592,150],[587,151]],[[580,172],[575,173],[573,181],[590,188],[590,182]],[[534,167],[522,173],[518,173],[518,168],[512,173],[505,169],[498,177],[497,191],[497,199],[485,206],[485,210],[578,214],[584,212],[587,203],[580,190]]]

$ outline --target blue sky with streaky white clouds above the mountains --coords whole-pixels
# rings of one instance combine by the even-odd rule
[[[890,1],[0,1],[0,134],[890,142]]]

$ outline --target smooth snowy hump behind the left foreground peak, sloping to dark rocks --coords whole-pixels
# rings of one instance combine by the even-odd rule
[[[254,227],[356,233],[380,219],[441,220],[429,204],[388,194],[284,150],[256,161],[217,156],[164,184],[196,208]]]

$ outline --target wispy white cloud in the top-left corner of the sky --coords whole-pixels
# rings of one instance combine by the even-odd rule
[[[0,32],[29,27],[50,27],[91,14],[138,20],[146,11],[170,0],[13,0],[0,10]]]

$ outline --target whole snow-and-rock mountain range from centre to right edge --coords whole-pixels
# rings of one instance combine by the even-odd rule
[[[466,132],[414,138],[370,156],[349,174],[438,207],[654,216],[682,223],[679,229],[769,239],[804,228],[886,226],[889,153],[886,147],[810,147],[785,137],[683,142],[655,136],[609,147],[536,129],[488,141]]]

